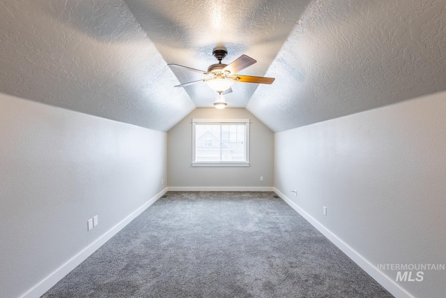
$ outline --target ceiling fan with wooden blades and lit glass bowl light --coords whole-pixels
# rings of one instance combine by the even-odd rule
[[[253,77],[251,75],[237,75],[238,71],[252,66],[257,61],[248,57],[247,55],[241,55],[236,60],[232,61],[231,64],[222,64],[222,59],[226,57],[228,52],[225,49],[214,49],[213,55],[217,58],[218,63],[212,64],[208,67],[208,71],[199,70],[196,68],[190,68],[187,66],[181,66],[178,64],[167,64],[171,67],[184,68],[187,70],[192,70],[196,73],[202,73],[203,75],[209,75],[209,78],[202,80],[197,80],[193,82],[187,82],[184,84],[179,84],[175,87],[185,87],[197,82],[206,82],[210,89],[217,91],[220,96],[222,94],[229,94],[232,92],[231,86],[234,82],[241,83],[256,83],[256,84],[271,84],[274,82],[274,77]]]

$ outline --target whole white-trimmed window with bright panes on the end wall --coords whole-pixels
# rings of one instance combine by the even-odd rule
[[[248,166],[249,119],[192,119],[193,166]]]

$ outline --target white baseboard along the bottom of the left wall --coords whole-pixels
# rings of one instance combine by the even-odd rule
[[[66,276],[72,269],[75,269],[77,265],[84,262],[86,258],[89,258],[89,256],[94,253],[100,246],[105,244],[105,242],[109,241],[117,232],[122,230],[125,225],[128,225],[130,221],[133,221],[134,218],[139,216],[144,210],[146,210],[151,204],[156,202],[159,198],[164,195],[164,193],[167,192],[167,188],[164,188],[160,193],[157,193],[153,198],[145,202],[141,207],[133,211],[129,216],[124,218],[122,221],[117,223],[113,228],[105,232],[105,234],[102,234],[101,237],[96,239],[92,244],[89,246],[86,246],[82,251],[77,253],[77,255],[73,256],[70,260],[68,260],[65,264],[63,264],[61,267],[56,269],[52,272],[52,274],[49,274],[49,276],[43,278],[40,283],[37,285],[34,285],[33,288],[29,289],[27,292],[25,292],[21,297],[22,298],[34,298],[34,297],[40,297],[47,290],[52,288],[53,285],[58,283],[64,276]]]

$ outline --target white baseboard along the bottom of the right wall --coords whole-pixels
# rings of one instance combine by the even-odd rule
[[[273,188],[273,191],[279,195],[282,200],[284,200],[287,204],[289,204],[295,211],[298,212],[303,218],[305,218],[309,223],[311,223],[314,228],[316,228],[319,232],[321,232],[325,237],[327,237],[332,243],[337,246],[343,253],[345,253],[348,258],[351,258],[353,262],[355,262],[359,267],[361,267],[364,271],[369,274],[375,281],[377,281],[380,285],[383,286],[390,294],[395,297],[407,297],[413,298],[413,295],[410,295],[409,292],[401,288],[401,285],[393,281],[390,277],[385,275],[382,271],[379,271],[371,262],[365,259],[360,253],[357,253],[353,248],[348,246],[344,241],[342,241],[336,234],[325,228],[324,225],[316,221],[316,219],[307,214],[307,212],[300,208],[298,204],[295,204],[292,200],[286,197],[283,193],[281,193],[277,188]]]

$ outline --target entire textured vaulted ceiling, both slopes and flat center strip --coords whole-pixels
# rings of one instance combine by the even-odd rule
[[[203,75],[224,46],[240,73],[228,107],[273,131],[446,89],[446,0],[0,2],[0,91],[168,131],[213,107]]]

